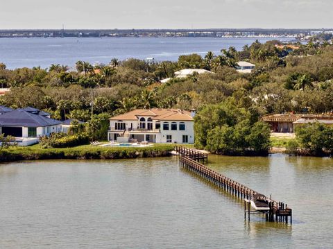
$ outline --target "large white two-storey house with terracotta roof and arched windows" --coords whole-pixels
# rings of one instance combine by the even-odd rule
[[[110,119],[108,140],[193,144],[194,114],[178,109],[133,110]]]

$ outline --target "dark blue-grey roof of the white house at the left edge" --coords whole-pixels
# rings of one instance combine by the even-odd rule
[[[56,119],[49,119],[23,109],[12,110],[0,115],[0,126],[44,127],[56,126],[60,123],[62,122]]]

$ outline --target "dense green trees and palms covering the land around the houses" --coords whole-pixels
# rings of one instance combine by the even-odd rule
[[[235,69],[240,60],[256,65],[252,73]],[[185,68],[214,74],[174,77]],[[159,83],[164,78],[171,80]],[[332,112],[332,80],[332,42],[314,40],[290,49],[279,41],[256,41],[241,51],[230,47],[203,57],[181,55],[176,62],[114,58],[108,65],[78,61],[74,69],[7,69],[1,64],[0,84],[11,89],[0,105],[32,106],[54,119],[85,121],[81,131],[89,139],[106,139],[108,118],[135,108],[196,109],[196,146],[245,153],[269,147],[267,127],[258,123],[263,114]]]

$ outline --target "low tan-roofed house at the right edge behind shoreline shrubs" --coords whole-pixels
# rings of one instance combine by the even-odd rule
[[[333,114],[266,114],[260,120],[268,123],[272,132],[293,133],[296,126],[305,123],[333,125]]]

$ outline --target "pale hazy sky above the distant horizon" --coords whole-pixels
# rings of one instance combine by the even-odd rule
[[[333,28],[333,0],[0,1],[0,29]]]

